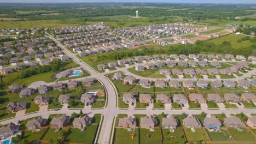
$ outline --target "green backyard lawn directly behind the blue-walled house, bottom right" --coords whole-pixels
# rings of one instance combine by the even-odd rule
[[[219,132],[210,132],[207,130],[207,133],[209,134],[209,136],[211,137],[211,139],[213,141],[229,141],[229,133],[228,131],[226,130],[222,130],[222,131],[219,131]]]

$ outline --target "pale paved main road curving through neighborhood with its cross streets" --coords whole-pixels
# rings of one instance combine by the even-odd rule
[[[52,37],[51,35],[47,36],[50,39],[53,39],[58,46],[60,46],[63,50],[63,52],[66,53],[66,55],[68,55],[69,57],[71,57],[75,62],[77,62],[81,67],[83,67],[84,69],[86,69],[87,71],[89,71],[89,73],[91,74],[91,76],[89,77],[95,77],[98,80],[100,80],[104,86],[106,87],[106,92],[107,92],[107,98],[108,98],[108,103],[105,109],[100,109],[100,110],[83,110],[84,113],[90,113],[91,115],[95,114],[95,113],[101,113],[104,116],[104,121],[102,123],[102,128],[100,131],[100,137],[98,139],[98,143],[109,143],[110,140],[110,131],[111,131],[111,127],[112,127],[112,121],[113,121],[113,117],[118,115],[119,113],[127,113],[127,115],[134,115],[134,114],[142,114],[142,113],[146,113],[147,115],[153,115],[153,114],[160,114],[162,112],[167,113],[168,115],[173,115],[173,114],[182,114],[183,112],[188,113],[189,115],[193,115],[193,114],[200,114],[202,111],[200,110],[179,110],[179,111],[174,111],[171,109],[165,110],[165,111],[158,111],[158,110],[120,110],[116,107],[117,104],[117,100],[116,100],[116,93],[114,90],[114,87],[112,86],[112,83],[109,82],[104,75],[105,74],[109,74],[109,73],[113,73],[115,71],[124,71],[125,73],[129,74],[129,75],[133,75],[131,74],[129,71],[127,71],[128,68],[133,67],[129,66],[129,67],[125,67],[125,68],[119,68],[117,70],[114,71],[109,71],[107,73],[98,73],[97,71],[95,71],[94,69],[92,69],[89,65],[87,65],[86,63],[84,63],[83,61],[81,61],[81,59],[79,59],[77,56],[75,56],[74,53],[70,52],[68,49],[66,49],[65,46],[63,46],[59,41],[57,41],[54,37]],[[251,74],[255,74],[255,70],[250,71],[249,73],[243,75],[243,77],[247,77],[247,75],[251,75]],[[135,76],[135,75],[134,75]],[[139,76],[135,76],[137,78],[140,79],[145,79],[145,77],[139,77]],[[240,79],[242,79],[243,77],[241,77]],[[84,79],[83,78],[79,78],[77,80],[81,80]],[[148,78],[147,78],[148,79]],[[233,79],[236,80],[237,78]],[[156,80],[156,79],[150,79],[150,80]],[[167,79],[166,79],[167,80]],[[185,79],[182,79],[185,80]],[[189,79],[189,80],[193,80],[193,79]],[[208,80],[212,80],[212,79],[208,79]],[[216,79],[214,79],[216,80]],[[67,81],[62,81],[62,82],[67,82]],[[34,82],[32,83],[30,86],[31,87],[37,87],[40,84],[46,84],[46,85],[53,85],[54,82],[52,83],[45,83],[43,81],[39,81],[39,82]],[[19,118],[12,118],[12,119],[8,119],[5,121],[1,121],[0,124],[7,124],[10,122],[17,122],[18,120],[23,120],[23,119],[27,119],[27,118],[32,118],[32,117],[37,117],[37,116],[49,116],[52,114],[57,114],[57,113],[66,113],[67,115],[71,115],[73,112],[79,113],[80,110],[51,110],[51,111],[45,111],[45,112],[40,112],[40,113],[31,113],[29,115],[25,115],[23,117],[19,117]],[[255,113],[255,110],[253,109],[239,109],[239,110],[205,110],[206,113],[225,113],[226,115],[230,115],[231,113],[245,113],[245,114],[249,114],[249,113]]]

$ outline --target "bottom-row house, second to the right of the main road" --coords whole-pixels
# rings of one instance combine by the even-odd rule
[[[158,124],[158,119],[156,117],[150,115],[141,118],[141,128],[142,129],[154,129],[154,126]]]

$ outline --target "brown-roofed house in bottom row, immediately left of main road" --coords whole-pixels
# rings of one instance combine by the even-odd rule
[[[73,127],[84,131],[91,124],[91,120],[92,118],[88,115],[76,117],[73,121]]]

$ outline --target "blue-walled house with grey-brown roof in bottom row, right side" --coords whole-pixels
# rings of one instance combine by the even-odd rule
[[[208,129],[219,130],[220,127],[222,127],[222,122],[220,122],[219,118],[214,115],[210,115],[210,117],[207,115],[207,117],[203,120],[203,123],[205,123],[205,127]]]

